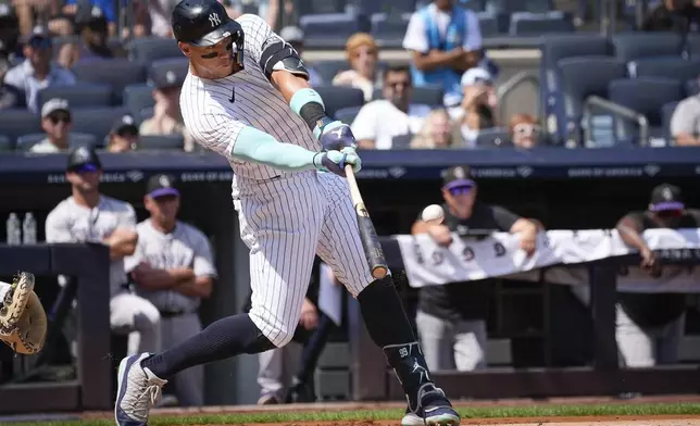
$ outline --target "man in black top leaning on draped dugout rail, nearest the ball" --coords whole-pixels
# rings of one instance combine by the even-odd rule
[[[541,224],[479,201],[468,166],[448,168],[443,179],[445,220],[428,224],[418,218],[411,229],[413,235],[428,234],[437,245],[449,247],[452,233],[467,238],[470,234],[518,233],[521,249],[528,255],[535,252]],[[486,366],[486,320],[493,287],[492,280],[486,279],[421,289],[415,322],[432,371],[474,371]]]

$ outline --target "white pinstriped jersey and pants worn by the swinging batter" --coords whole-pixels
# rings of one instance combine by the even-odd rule
[[[274,344],[299,323],[314,254],[357,296],[373,278],[358,234],[347,181],[330,173],[285,173],[232,156],[241,129],[318,151],[304,123],[273,87],[259,62],[263,46],[282,40],[259,16],[236,20],[245,34],[245,70],[209,80],[187,76],[180,95],[185,125],[198,143],[228,159],[240,236],[250,249],[255,326]]]

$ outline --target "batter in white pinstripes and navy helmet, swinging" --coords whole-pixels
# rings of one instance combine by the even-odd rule
[[[359,301],[372,339],[407,393],[402,425],[458,425],[437,388],[388,275],[365,261],[345,165],[361,167],[349,126],[329,118],[298,53],[259,16],[234,21],[216,0],[182,0],[173,34],[189,59],[180,109],[187,129],[234,171],[234,205],[250,249],[252,309],[159,354],[122,360],[115,419],[146,425],[175,373],[288,343],[314,255]]]

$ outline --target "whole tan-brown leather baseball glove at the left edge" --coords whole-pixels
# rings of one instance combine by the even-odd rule
[[[34,292],[34,275],[20,273],[12,283],[0,281],[0,340],[13,351],[34,354],[46,339],[47,318]]]

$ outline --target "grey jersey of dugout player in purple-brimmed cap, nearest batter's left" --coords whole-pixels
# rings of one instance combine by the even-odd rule
[[[177,222],[172,233],[163,234],[153,227],[150,220],[146,220],[136,226],[136,251],[124,260],[127,273],[145,262],[158,270],[189,267],[197,277],[216,276],[209,240],[193,226]],[[199,308],[199,298],[174,290],[148,291],[137,288],[137,292],[164,312],[193,312]]]

